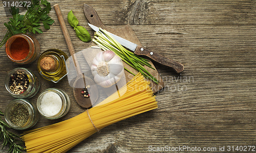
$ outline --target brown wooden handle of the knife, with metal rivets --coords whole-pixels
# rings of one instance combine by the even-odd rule
[[[173,68],[177,73],[181,73],[184,70],[184,65],[174,61],[172,59],[166,58],[162,55],[159,55],[151,50],[145,49],[141,46],[137,46],[135,52],[136,55],[144,55],[147,57],[150,57],[151,59],[153,59],[154,61],[166,65],[167,67],[171,67]]]

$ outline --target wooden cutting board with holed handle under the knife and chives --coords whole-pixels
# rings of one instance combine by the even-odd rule
[[[111,32],[115,35],[118,35],[126,40],[129,40],[131,42],[134,42],[136,43],[137,45],[141,45],[139,39],[137,38],[137,36],[135,35],[133,29],[131,28],[130,25],[126,25],[126,26],[123,26],[122,28],[118,28],[118,29],[112,29],[112,28],[109,28],[109,27],[106,27],[100,20],[97,12],[94,10],[93,7],[91,7],[90,5],[88,4],[84,4],[83,6],[83,11],[84,11],[84,15],[86,15],[86,18],[88,19],[89,23],[94,25],[94,26],[97,26],[97,27],[100,27],[102,29],[105,29],[106,31],[108,32]],[[92,44],[92,46],[95,46],[95,43]],[[95,57],[97,54],[97,52],[91,52],[91,55],[90,57]],[[88,58],[88,55],[84,55],[86,58]],[[149,59],[148,59],[149,60]],[[89,63],[90,64],[90,63]],[[134,74],[137,74],[138,71],[135,70],[134,68],[132,68],[130,65],[126,64],[125,62],[123,62],[124,64],[124,67],[126,69],[128,69],[129,71],[131,71],[132,73]],[[147,66],[144,66],[144,68],[149,72],[151,73],[155,78],[157,78],[159,80],[159,83],[155,83],[154,81],[152,80],[148,80],[151,82],[151,87],[152,87],[152,90],[154,93],[158,92],[159,90],[163,89],[164,88],[164,82],[162,80],[162,78],[160,77],[159,73],[157,72],[154,64],[152,63],[152,61],[150,60],[150,64],[152,65],[152,67],[155,69],[151,69]],[[126,79],[126,82],[130,81],[131,79],[133,78],[133,75],[127,71],[125,71],[125,79]]]

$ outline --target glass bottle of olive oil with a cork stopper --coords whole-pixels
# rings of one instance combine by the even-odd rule
[[[46,80],[57,83],[67,75],[67,59],[68,56],[61,50],[47,50],[44,53],[42,53],[38,59],[38,72]]]

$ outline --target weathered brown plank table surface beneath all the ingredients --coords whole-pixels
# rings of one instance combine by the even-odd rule
[[[67,14],[73,9],[79,25],[93,37],[82,9],[83,3],[87,3],[106,26],[119,28],[130,24],[142,46],[185,66],[181,74],[176,74],[155,63],[165,82],[165,88],[156,94],[159,108],[105,127],[69,152],[147,152],[157,147],[179,146],[206,147],[217,152],[224,146],[227,152],[228,146],[232,150],[232,146],[236,149],[256,145],[256,1],[50,2],[52,6],[59,4],[67,25]],[[70,55],[54,9],[50,16],[55,20],[51,29],[35,35],[41,52],[57,48]],[[8,18],[2,5],[1,39],[7,31],[3,24]],[[80,41],[70,26],[68,30],[76,52],[90,46],[91,42]],[[44,80],[37,72],[36,62],[14,64],[4,47],[0,49],[1,111],[14,99],[7,93],[4,79],[8,71],[17,67],[28,68],[39,77],[39,93],[59,88],[71,98],[71,110],[65,117],[48,120],[40,116],[33,128],[84,112],[75,102],[67,78],[57,84]],[[39,93],[29,100],[36,102]]]

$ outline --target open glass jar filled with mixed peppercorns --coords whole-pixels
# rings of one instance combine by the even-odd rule
[[[39,91],[40,81],[30,70],[16,68],[6,76],[5,88],[15,98],[31,98]]]

